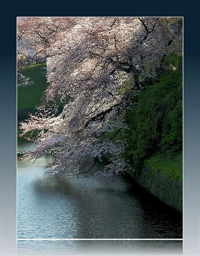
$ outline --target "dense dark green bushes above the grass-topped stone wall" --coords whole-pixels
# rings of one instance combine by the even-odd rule
[[[129,113],[125,157],[135,170],[158,152],[169,160],[182,151],[181,61],[176,71],[165,72],[148,86]]]

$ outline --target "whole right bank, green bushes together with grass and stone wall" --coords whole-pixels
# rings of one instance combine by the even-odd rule
[[[132,106],[124,152],[138,184],[179,212],[183,203],[182,110],[180,58],[176,72],[163,72]]]

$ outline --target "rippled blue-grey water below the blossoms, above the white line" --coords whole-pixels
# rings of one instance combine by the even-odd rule
[[[32,147],[18,138],[18,150]],[[18,238],[182,238],[181,214],[124,176],[55,178],[43,174],[51,156],[20,158]]]

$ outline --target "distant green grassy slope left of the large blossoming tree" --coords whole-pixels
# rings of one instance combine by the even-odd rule
[[[45,76],[46,63],[22,68],[22,74],[30,77],[34,85],[19,87],[17,89],[17,109],[33,109],[41,101],[43,91],[48,86]]]

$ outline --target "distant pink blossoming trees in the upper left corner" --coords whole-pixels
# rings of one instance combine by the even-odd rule
[[[47,57],[47,49],[57,34],[74,25],[70,17],[19,17],[17,21],[18,53],[29,57]]]

